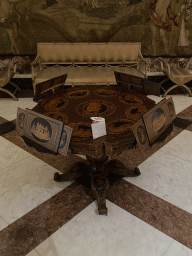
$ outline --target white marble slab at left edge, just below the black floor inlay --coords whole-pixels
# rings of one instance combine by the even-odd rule
[[[22,148],[0,136],[0,171],[30,156]]]

